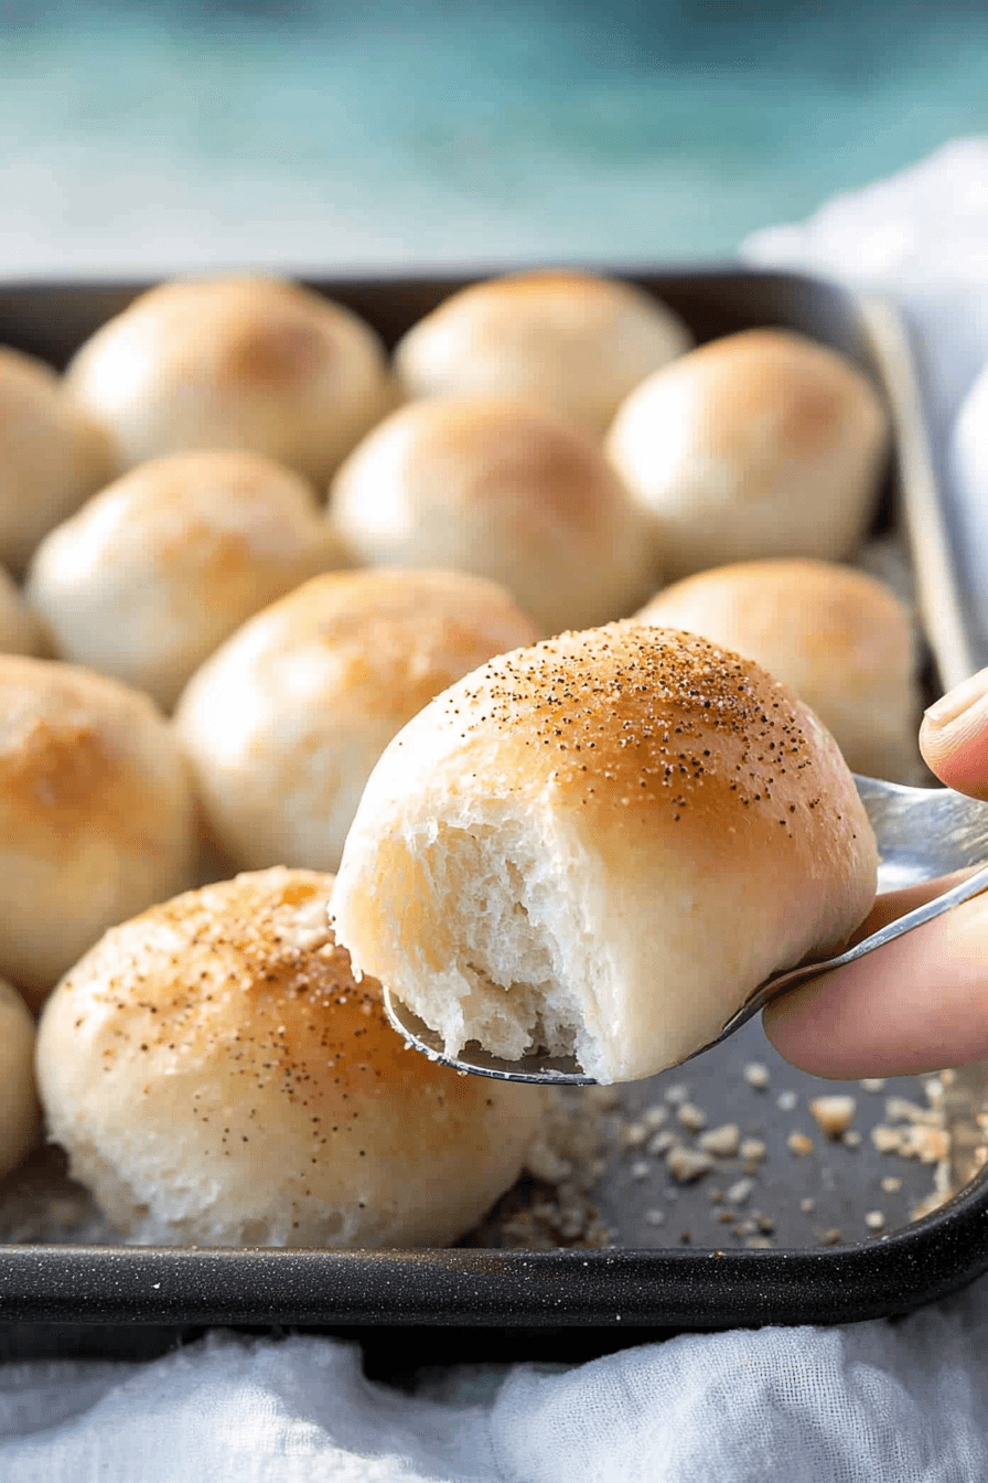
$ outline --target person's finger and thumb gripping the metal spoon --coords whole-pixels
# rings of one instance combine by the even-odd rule
[[[988,669],[926,712],[920,750],[948,787],[988,799]],[[856,936],[868,936],[967,873],[890,891]],[[837,1080],[939,1071],[988,1057],[988,891],[782,995],[763,1023],[787,1060]]]

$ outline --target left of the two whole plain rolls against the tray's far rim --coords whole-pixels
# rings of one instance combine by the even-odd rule
[[[190,448],[249,448],[317,485],[393,405],[384,344],[295,283],[163,283],[92,335],[67,380],[126,466]]]

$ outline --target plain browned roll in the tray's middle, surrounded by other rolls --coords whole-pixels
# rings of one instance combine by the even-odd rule
[[[641,515],[594,440],[504,397],[393,412],[339,470],[330,516],[367,565],[490,577],[544,633],[621,617],[658,580]]]

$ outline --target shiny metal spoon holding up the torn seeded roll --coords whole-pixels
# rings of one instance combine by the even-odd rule
[[[902,787],[899,783],[881,783],[874,777],[858,776],[855,776],[855,785],[878,841],[878,894],[933,881],[941,875],[984,865],[988,860],[988,804],[966,798],[949,787]],[[773,974],[748,997],[736,1014],[732,1014],[715,1040],[701,1046],[686,1060],[692,1060],[704,1050],[718,1046],[727,1035],[733,1035],[779,994],[794,989],[818,973],[840,968],[846,962],[853,962],[855,958],[864,958],[875,948],[883,948],[895,937],[912,931],[914,927],[921,927],[923,922],[932,921],[949,911],[951,906],[957,906],[984,890],[988,890],[988,866],[967,876],[952,890],[926,902],[924,906],[918,906],[874,931],[864,942],[849,948],[847,952],[824,962],[801,962],[795,968]],[[471,1041],[467,1051],[458,1057],[447,1056],[441,1037],[387,989],[384,991],[384,1007],[394,1028],[404,1035],[409,1044],[424,1051],[431,1060],[440,1060],[456,1071],[499,1077],[502,1081],[541,1081],[553,1086],[567,1083],[587,1086],[594,1081],[593,1077],[587,1077],[579,1069],[575,1056],[548,1056],[532,1051],[517,1060],[501,1060],[498,1056],[489,1056],[475,1041]]]

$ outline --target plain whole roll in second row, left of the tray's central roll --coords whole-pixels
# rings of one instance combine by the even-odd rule
[[[52,531],[27,592],[58,653],[164,709],[252,612],[348,565],[299,475],[250,452],[141,464]]]

